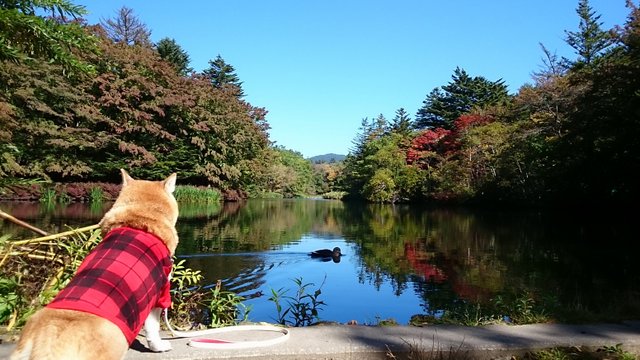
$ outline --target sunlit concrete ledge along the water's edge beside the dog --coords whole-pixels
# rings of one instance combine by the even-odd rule
[[[391,351],[403,358],[411,348],[431,353],[455,351],[455,358],[508,359],[528,350],[556,346],[598,348],[623,344],[627,351],[640,354],[640,322],[597,325],[535,324],[522,326],[490,325],[465,327],[433,325],[427,327],[324,325],[290,329],[290,339],[280,345],[246,350],[207,350],[187,345],[187,339],[171,340],[173,350],[150,353],[134,343],[125,360],[139,359],[389,359]],[[235,336],[235,338],[234,338]],[[217,336],[227,340],[260,340],[279,336],[273,332],[239,333]],[[143,343],[144,340],[143,340]],[[146,344],[146,343],[145,343]],[[8,357],[14,344],[0,345],[0,359]]]

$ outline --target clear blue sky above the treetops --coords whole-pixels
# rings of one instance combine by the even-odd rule
[[[515,93],[542,64],[539,43],[574,58],[578,0],[80,1],[89,23],[126,5],[154,42],[175,39],[201,71],[220,54],[265,107],[270,138],[305,157],[346,154],[361,120],[415,115],[459,66]],[[590,0],[605,28],[625,0]]]

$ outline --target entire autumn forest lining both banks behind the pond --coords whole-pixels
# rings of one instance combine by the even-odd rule
[[[604,29],[588,0],[515,94],[455,68],[412,118],[365,118],[342,162],[269,140],[220,55],[201,72],[123,7],[100,24],[67,0],[0,3],[0,193],[115,183],[118,169],[239,197],[346,194],[370,202],[622,204],[640,198],[640,11]],[[44,14],[44,15],[43,15]],[[455,65],[454,65],[455,66]],[[268,104],[265,104],[268,107]],[[7,195],[9,194],[9,195]],[[339,197],[339,196],[337,196]]]

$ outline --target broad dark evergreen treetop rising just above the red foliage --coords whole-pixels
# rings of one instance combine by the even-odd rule
[[[509,99],[504,81],[489,81],[482,76],[471,77],[456,68],[452,81],[433,89],[422,102],[415,119],[416,128],[441,127],[452,129],[453,122],[473,107],[486,107]]]

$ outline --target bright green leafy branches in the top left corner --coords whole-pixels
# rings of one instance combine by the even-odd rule
[[[50,17],[37,13],[51,12]],[[21,63],[44,59],[62,66],[66,74],[90,73],[75,50],[93,52],[96,41],[80,26],[83,6],[67,0],[0,1],[0,61]]]

